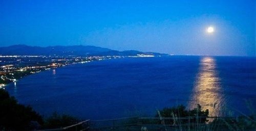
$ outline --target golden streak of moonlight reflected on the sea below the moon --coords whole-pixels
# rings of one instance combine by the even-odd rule
[[[203,57],[200,61],[189,108],[196,108],[197,104],[200,104],[203,111],[209,110],[209,116],[221,116],[221,107],[225,102],[221,91],[215,59]]]

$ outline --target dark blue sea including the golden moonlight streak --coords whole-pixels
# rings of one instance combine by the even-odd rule
[[[154,116],[163,107],[196,103],[211,116],[252,114],[256,58],[109,59],[33,74],[6,89],[45,116],[54,111],[94,120]]]

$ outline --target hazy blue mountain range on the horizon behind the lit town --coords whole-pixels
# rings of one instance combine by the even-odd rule
[[[46,55],[46,56],[136,56],[139,54],[166,56],[168,54],[155,52],[140,52],[135,50],[116,51],[95,46],[49,46],[36,47],[27,45],[14,45],[0,47],[0,55]]]

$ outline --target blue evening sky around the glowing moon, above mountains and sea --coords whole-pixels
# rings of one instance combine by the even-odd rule
[[[0,1],[0,46],[255,56],[255,0]],[[206,33],[213,26],[215,32]]]

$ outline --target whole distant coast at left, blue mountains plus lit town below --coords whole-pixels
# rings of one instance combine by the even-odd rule
[[[95,46],[33,47],[13,45],[0,47],[0,88],[29,74],[64,67],[70,64],[123,57],[166,56],[135,50],[115,51]]]

